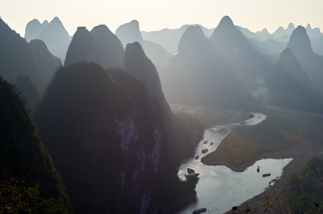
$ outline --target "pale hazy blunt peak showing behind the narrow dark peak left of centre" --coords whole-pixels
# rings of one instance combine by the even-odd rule
[[[170,58],[170,54],[165,48],[153,41],[146,41],[143,39],[139,29],[139,22],[137,20],[132,20],[131,22],[125,23],[117,28],[115,34],[120,39],[121,43],[126,47],[127,44],[133,42],[140,43],[143,46],[143,50],[154,65],[159,66],[160,64],[166,62]]]

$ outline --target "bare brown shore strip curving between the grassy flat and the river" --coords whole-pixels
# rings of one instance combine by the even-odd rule
[[[286,159],[286,158],[292,158],[293,160],[287,164],[284,169],[281,178],[279,181],[275,182],[274,185],[271,187],[268,187],[265,192],[258,194],[256,196],[253,196],[253,198],[249,199],[247,202],[247,206],[249,208],[257,208],[257,210],[262,210],[263,207],[260,206],[261,203],[265,203],[265,195],[272,196],[273,199],[275,197],[279,196],[279,202],[275,203],[274,208],[277,210],[283,210],[284,213],[290,213],[291,210],[289,209],[288,204],[286,203],[286,195],[284,189],[288,188],[289,185],[289,178],[291,178],[292,175],[297,173],[303,166],[305,166],[310,159],[314,158],[315,156],[323,156],[323,146],[315,145],[310,142],[306,142],[299,145],[294,145],[290,147],[286,147],[284,149],[279,149],[276,151],[270,151],[270,152],[262,152],[261,154],[258,154],[256,156],[253,156],[253,158],[249,161],[246,161],[244,163],[241,163],[239,165],[235,165],[230,163],[228,157],[224,155],[223,152],[224,145],[220,144],[215,152],[212,152],[212,159],[208,162],[204,161],[202,159],[202,163],[206,165],[211,166],[218,166],[218,165],[224,165],[230,168],[231,170],[234,170],[236,172],[242,172],[246,170],[249,166],[252,166],[253,163],[260,159]],[[237,205],[232,205],[237,206]],[[240,209],[246,208],[246,202],[239,205]],[[231,213],[228,211],[226,214]],[[268,212],[271,213],[271,212]],[[276,213],[276,211],[272,210],[272,213]]]

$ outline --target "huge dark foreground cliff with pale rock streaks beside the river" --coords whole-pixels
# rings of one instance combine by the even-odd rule
[[[60,69],[39,124],[76,213],[152,213],[171,204],[167,197],[192,194],[170,196],[183,182],[166,161],[161,112],[143,83],[121,69],[86,62]],[[174,189],[165,191],[167,184]]]

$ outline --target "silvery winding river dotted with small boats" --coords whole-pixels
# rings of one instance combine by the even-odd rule
[[[199,173],[199,183],[197,184],[197,201],[190,203],[178,214],[192,213],[198,207],[207,208],[207,213],[225,213],[232,206],[238,206],[247,199],[251,199],[264,191],[269,182],[282,175],[282,168],[291,159],[261,159],[256,161],[253,166],[246,168],[244,172],[237,173],[226,166],[206,166],[201,162],[201,158],[216,150],[220,142],[230,133],[232,128],[237,126],[254,126],[266,119],[265,114],[252,113],[253,117],[239,123],[229,123],[223,126],[213,126],[204,131],[204,138],[197,146],[195,156],[198,159],[190,159],[183,163],[178,169],[178,176],[185,178],[187,168],[193,168]],[[207,140],[204,143],[204,140]],[[211,145],[211,142],[212,145]],[[202,154],[202,149],[208,152]],[[260,172],[257,173],[257,166]],[[270,173],[269,177],[263,178],[263,173]]]

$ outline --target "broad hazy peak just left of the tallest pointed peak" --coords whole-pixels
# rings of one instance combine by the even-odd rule
[[[248,108],[253,98],[201,27],[187,27],[178,54],[159,72],[167,100],[175,104]]]

